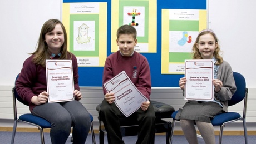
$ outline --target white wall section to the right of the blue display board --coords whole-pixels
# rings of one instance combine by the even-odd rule
[[[209,0],[209,27],[220,40],[223,58],[256,87],[256,1]]]

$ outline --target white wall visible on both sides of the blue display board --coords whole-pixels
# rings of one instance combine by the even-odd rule
[[[61,0],[0,1],[0,86],[13,85],[27,53],[35,51],[42,24],[61,19]],[[209,27],[220,39],[223,57],[256,87],[256,1],[209,0]],[[154,73],[152,73],[154,75]]]

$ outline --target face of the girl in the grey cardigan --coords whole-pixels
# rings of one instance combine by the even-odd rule
[[[218,43],[215,42],[214,37],[207,33],[200,36],[198,43],[196,43],[201,57],[203,59],[212,59],[215,49],[218,47]]]

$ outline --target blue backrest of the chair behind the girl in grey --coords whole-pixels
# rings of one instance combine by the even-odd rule
[[[233,72],[233,76],[235,79],[235,86],[237,86],[237,91],[235,91],[231,100],[228,101],[228,106],[235,105],[236,103],[242,101],[247,92],[244,76],[238,72]]]

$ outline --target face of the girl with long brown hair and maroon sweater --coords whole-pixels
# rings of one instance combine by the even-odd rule
[[[48,49],[51,53],[60,53],[61,46],[64,41],[64,32],[61,24],[56,24],[55,29],[45,34],[45,42],[47,43]]]

